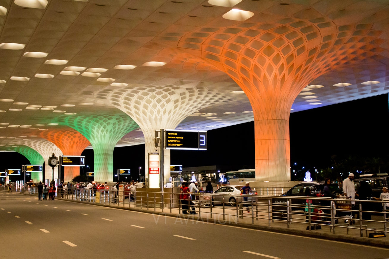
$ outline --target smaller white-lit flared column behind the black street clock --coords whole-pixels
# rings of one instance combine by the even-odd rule
[[[51,143],[50,141],[44,139],[37,140],[24,140],[21,144],[31,147],[35,151],[37,151],[45,161],[45,174],[44,179],[54,180],[58,178],[58,166],[54,168],[54,179],[53,178],[53,169],[51,166],[47,164],[49,157],[54,153],[56,156],[62,156],[62,151],[59,147]]]

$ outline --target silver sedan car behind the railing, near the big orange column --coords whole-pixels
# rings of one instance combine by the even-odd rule
[[[243,186],[235,186],[235,185],[229,185],[229,186],[222,186],[216,191],[214,191],[213,198],[215,205],[220,204],[224,202],[231,205],[236,206],[237,202],[241,203],[243,201],[242,193],[240,191],[240,188]],[[258,194],[255,190],[252,191],[253,194]],[[251,202],[251,197],[248,197],[247,201]]]

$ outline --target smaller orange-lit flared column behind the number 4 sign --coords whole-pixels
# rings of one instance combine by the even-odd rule
[[[74,129],[42,131],[40,137],[53,142],[65,156],[80,156],[82,151],[90,145],[89,141]],[[80,174],[79,166],[65,166],[64,181],[70,182]]]

